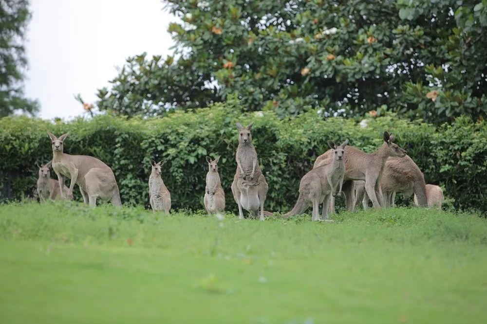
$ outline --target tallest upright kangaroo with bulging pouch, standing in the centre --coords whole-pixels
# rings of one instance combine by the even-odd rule
[[[257,152],[252,144],[250,129],[254,123],[247,127],[237,123],[239,129],[239,145],[237,147],[237,171],[233,177],[232,194],[239,206],[239,218],[244,218],[242,207],[255,216],[259,208],[261,210],[260,219],[264,220],[264,201],[267,196],[269,186],[265,181],[259,163],[257,162]]]

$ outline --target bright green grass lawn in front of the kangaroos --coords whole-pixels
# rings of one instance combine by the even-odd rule
[[[0,206],[0,323],[485,323],[487,221]]]

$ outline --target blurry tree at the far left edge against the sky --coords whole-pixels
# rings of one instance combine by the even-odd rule
[[[37,102],[24,97],[22,85],[27,65],[22,42],[30,17],[27,0],[0,1],[0,117],[38,111]]]

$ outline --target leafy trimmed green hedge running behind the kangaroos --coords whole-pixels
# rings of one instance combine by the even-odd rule
[[[280,120],[271,111],[242,113],[238,102],[215,104],[197,111],[176,111],[164,118],[125,119],[108,115],[92,120],[58,123],[20,117],[0,120],[0,201],[35,197],[37,161],[52,159],[51,130],[70,131],[65,152],[101,159],[115,173],[122,202],[148,206],[150,159],[167,159],[163,179],[173,208],[202,209],[207,163],[205,156],[222,155],[219,171],[227,209],[236,211],[230,185],[236,169],[238,132],[235,122],[254,121],[252,128],[262,170],[269,184],[266,210],[288,210],[296,201],[301,177],[316,157],[328,149],[326,141],[343,142],[367,152],[382,144],[382,132],[425,172],[427,183],[442,185],[460,209],[486,211],[487,125],[467,117],[436,129],[429,124],[397,119],[394,115],[369,118],[362,127],[340,117],[323,120],[317,111]],[[53,175],[54,176],[54,175]],[[69,184],[69,182],[67,182]],[[77,195],[77,196],[76,196]],[[79,190],[75,198],[80,199]]]

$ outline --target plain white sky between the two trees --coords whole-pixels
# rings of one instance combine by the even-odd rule
[[[177,19],[160,0],[31,0],[25,94],[37,98],[39,117],[84,113],[74,95],[96,101],[128,56],[171,54],[167,32]]]

